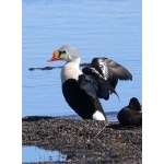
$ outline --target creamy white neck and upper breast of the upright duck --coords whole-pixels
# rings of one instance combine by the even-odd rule
[[[80,67],[81,58],[78,58],[73,61],[66,62],[61,69],[61,83],[67,81],[68,79],[78,80],[79,75],[82,74]]]

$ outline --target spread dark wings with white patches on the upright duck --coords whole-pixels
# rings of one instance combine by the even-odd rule
[[[108,58],[94,58],[89,67],[82,69],[79,77],[82,90],[93,97],[108,99],[119,80],[132,80],[131,73],[121,65]]]

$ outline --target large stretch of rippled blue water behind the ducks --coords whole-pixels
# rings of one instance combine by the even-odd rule
[[[82,62],[107,57],[126,67],[133,81],[119,81],[116,95],[101,99],[104,110],[118,112],[131,97],[142,104],[141,0],[23,0],[22,116],[70,116],[61,93],[60,71],[28,68],[62,66],[47,62],[62,45],[73,45]],[[116,115],[108,116],[117,120]]]

